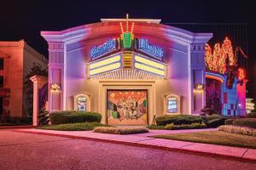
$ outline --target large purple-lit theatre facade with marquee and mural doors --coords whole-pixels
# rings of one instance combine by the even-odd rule
[[[212,33],[127,17],[41,35],[49,44],[49,111],[97,111],[103,123],[147,125],[206,104]]]

